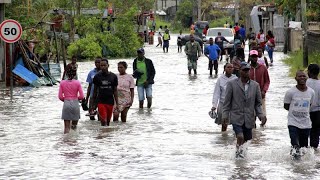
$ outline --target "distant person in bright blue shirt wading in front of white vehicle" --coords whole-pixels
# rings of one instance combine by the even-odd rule
[[[209,46],[204,50],[204,55],[209,59],[210,76],[212,76],[212,68],[214,68],[215,75],[218,77],[218,58],[221,56],[221,49],[218,45],[213,44],[213,38],[209,39]]]

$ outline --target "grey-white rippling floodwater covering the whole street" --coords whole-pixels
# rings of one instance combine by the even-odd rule
[[[306,150],[297,162],[289,156],[290,140],[285,91],[295,85],[288,77],[285,57],[275,53],[269,68],[266,127],[254,130],[245,159],[235,159],[235,137],[208,116],[215,78],[205,56],[198,75],[187,74],[184,53],[177,53],[172,35],[169,53],[146,45],[146,57],[156,68],[153,107],[139,110],[137,96],[127,123],[101,127],[81,111],[76,131],[63,134],[62,102],[53,87],[17,87],[13,102],[8,91],[0,96],[0,179],[319,179],[319,153]],[[155,41],[157,41],[155,39]],[[117,62],[110,70],[117,72]],[[219,74],[222,66],[219,64]],[[79,63],[79,79],[86,91],[86,75],[93,62]],[[136,92],[135,92],[135,95]]]

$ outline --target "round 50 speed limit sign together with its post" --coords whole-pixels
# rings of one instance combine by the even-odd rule
[[[3,21],[0,24],[0,38],[6,42],[10,43],[9,52],[10,52],[10,100],[13,99],[13,43],[17,42],[22,34],[22,27],[18,21],[13,19],[8,19]]]

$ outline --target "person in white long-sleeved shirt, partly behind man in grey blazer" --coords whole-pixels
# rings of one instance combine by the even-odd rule
[[[214,87],[211,110],[217,110],[218,118],[216,118],[215,123],[218,125],[222,124],[221,131],[226,131],[228,125],[222,123],[222,105],[224,102],[224,97],[226,95],[227,82],[233,79],[237,79],[237,76],[232,74],[233,65],[231,63],[225,64],[223,69],[224,74],[218,78]]]

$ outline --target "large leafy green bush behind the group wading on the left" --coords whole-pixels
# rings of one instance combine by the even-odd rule
[[[82,58],[98,56],[108,58],[132,57],[136,50],[142,46],[137,32],[134,30],[135,9],[129,9],[126,14],[117,16],[114,22],[110,21],[110,31],[102,30],[101,25],[106,23],[92,17],[85,18],[77,23],[86,24],[80,30],[84,37],[68,47],[69,55],[78,55]]]

